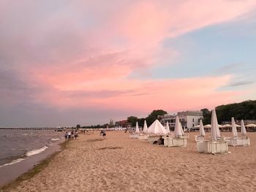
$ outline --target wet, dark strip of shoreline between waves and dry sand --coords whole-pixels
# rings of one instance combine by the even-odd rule
[[[56,154],[60,153],[61,150],[64,149],[64,146],[67,145],[66,142],[65,139],[59,139],[58,141],[53,142],[46,150],[42,151],[42,153],[23,156],[23,160],[16,164],[1,166],[0,191],[6,191],[6,188],[9,188],[7,186],[13,185],[12,183],[20,183],[21,181],[28,179],[28,175],[33,174],[35,170],[50,161]],[[38,171],[36,171],[36,173],[38,173]]]

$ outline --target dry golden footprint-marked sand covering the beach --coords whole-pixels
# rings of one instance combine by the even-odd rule
[[[12,191],[256,191],[256,133],[250,147],[229,147],[227,155],[198,153],[195,134],[188,147],[150,145],[121,131],[106,139],[80,134]]]

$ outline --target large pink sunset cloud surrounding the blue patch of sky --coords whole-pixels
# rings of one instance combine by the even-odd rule
[[[239,96],[217,91],[230,80],[228,76],[127,77],[176,58],[175,49],[162,47],[164,39],[232,20],[255,9],[254,0],[73,1],[51,9],[46,4],[44,10],[22,2],[12,8],[6,2],[0,3],[4,26],[0,50],[7,57],[4,61],[11,62],[4,67],[15,69],[27,84],[42,90],[31,94],[36,102],[60,109],[121,107],[148,112],[213,107]]]

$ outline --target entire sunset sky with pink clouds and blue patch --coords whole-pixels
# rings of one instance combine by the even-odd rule
[[[255,0],[0,0],[0,126],[255,100]]]

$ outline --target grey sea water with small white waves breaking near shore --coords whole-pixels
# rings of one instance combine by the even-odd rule
[[[64,131],[0,129],[0,166],[46,150]]]

